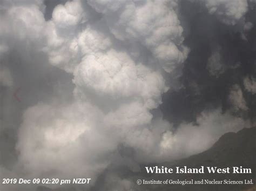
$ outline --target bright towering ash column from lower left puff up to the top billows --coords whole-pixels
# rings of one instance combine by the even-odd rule
[[[177,15],[165,4],[159,4],[156,15],[145,17],[145,21],[137,21],[140,17],[136,17],[134,26],[120,21],[136,31],[136,36],[127,33],[129,43],[119,36],[120,39],[115,38],[113,34],[117,35],[118,28],[114,30],[108,22],[109,14],[117,15],[113,11],[122,6],[123,9],[132,6],[131,10],[144,14],[152,10],[154,5],[151,3],[145,2],[138,8],[132,2],[129,5],[115,4],[113,9],[113,2],[109,2],[104,5],[107,10],[101,10],[100,3],[94,2],[95,10],[103,13],[99,17],[97,12],[86,12],[90,9],[89,4],[72,1],[57,5],[52,19],[41,24],[45,26],[42,31],[48,43],[42,51],[49,54],[51,64],[73,74],[75,89],[73,100],[64,106],[40,103],[24,113],[17,149],[21,152],[19,162],[31,174],[43,175],[53,170],[49,175],[86,175],[95,181],[98,173],[118,154],[116,150],[120,144],[134,149],[136,161],[161,158],[162,134],[170,125],[161,118],[154,118],[150,110],[159,106],[161,94],[167,90],[159,63],[167,69],[166,64],[172,62],[174,70],[185,59],[180,58],[183,53],[178,49],[182,43],[182,29]],[[164,16],[167,18],[159,22],[163,19],[161,6],[166,10]],[[170,19],[172,15],[174,21]],[[92,22],[94,19],[96,21]],[[145,29],[152,26],[153,29],[145,33],[139,29],[139,23],[149,23]],[[176,28],[180,29],[179,33]],[[175,38],[170,40],[172,35]],[[170,55],[163,47],[177,51],[171,51]],[[61,133],[57,135],[58,132]],[[56,151],[63,162],[56,158]],[[68,153],[72,154],[68,157]],[[66,165],[71,161],[74,165]]]

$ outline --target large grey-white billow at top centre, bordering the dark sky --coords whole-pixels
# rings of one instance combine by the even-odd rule
[[[179,67],[187,57],[182,45],[183,28],[176,1],[89,1],[104,14],[113,35],[127,42],[140,42],[159,60],[167,72]]]

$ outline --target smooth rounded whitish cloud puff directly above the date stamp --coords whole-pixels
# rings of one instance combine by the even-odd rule
[[[19,162],[37,177],[83,176],[96,181],[116,147],[101,118],[102,113],[88,103],[39,103],[29,108],[19,129]]]

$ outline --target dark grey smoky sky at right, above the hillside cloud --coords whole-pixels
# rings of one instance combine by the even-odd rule
[[[181,15],[187,29],[184,44],[191,51],[180,78],[184,87],[163,96],[160,107],[166,119],[177,124],[183,120],[195,121],[205,108],[220,107],[224,112],[233,110],[238,99],[244,106],[240,104],[242,111],[237,112],[246,118],[254,118],[253,95],[247,96],[246,91],[252,90],[249,86],[253,87],[253,80],[248,79],[255,76],[254,13],[254,4],[250,4],[245,16],[240,19],[242,22],[224,24],[205,6],[182,1]],[[245,30],[248,23],[250,30]],[[236,93],[234,86],[239,86],[235,88]],[[250,110],[244,112],[246,102],[250,102],[247,103]]]

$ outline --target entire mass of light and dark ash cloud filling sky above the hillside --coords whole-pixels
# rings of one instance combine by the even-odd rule
[[[0,161],[2,174],[87,177],[91,187],[113,166],[136,172],[251,125],[254,74],[246,55],[226,55],[240,52],[229,47],[238,39],[251,50],[247,1],[55,3],[0,3],[0,138],[12,158]],[[211,22],[220,28],[209,31]],[[240,36],[223,40],[224,31]],[[110,190],[133,184],[107,180]]]

